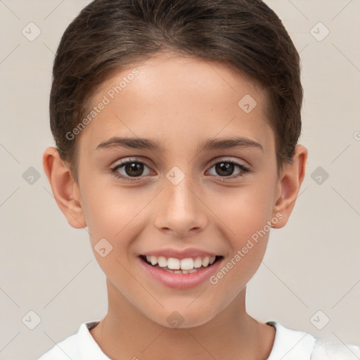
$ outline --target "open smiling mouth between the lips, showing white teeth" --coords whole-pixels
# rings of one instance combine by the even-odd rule
[[[192,274],[214,265],[219,259],[222,259],[222,256],[176,259],[175,257],[140,255],[140,259],[150,266],[169,273]]]

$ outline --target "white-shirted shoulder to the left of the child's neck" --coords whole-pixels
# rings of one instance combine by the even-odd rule
[[[101,352],[89,331],[97,323],[98,321],[82,323],[76,334],[58,342],[38,360],[89,360],[91,356],[97,356],[98,360],[107,360],[108,357]]]

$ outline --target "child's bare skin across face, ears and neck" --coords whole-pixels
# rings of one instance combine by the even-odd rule
[[[94,250],[107,278],[108,314],[91,335],[114,360],[265,360],[275,330],[247,314],[245,293],[269,232],[217,284],[205,281],[186,290],[154,281],[138,257],[150,250],[195,247],[222,255],[222,267],[276,214],[282,219],[272,227],[286,224],[304,179],[307,149],[298,145],[293,162],[278,174],[266,92],[215,61],[158,53],[115,73],[92,103],[134,68],[139,75],[77,135],[78,184],[56,148],[44,152],[46,176],[69,224],[88,227],[93,250],[101,238],[113,246],[105,257]],[[257,101],[250,113],[238,106],[245,94]],[[167,150],[96,150],[113,136],[156,139]],[[231,136],[256,141],[262,150],[197,150],[205,139]],[[135,181],[110,174],[121,159],[133,157],[149,165],[141,176],[132,176]],[[233,166],[226,176],[214,166],[224,160],[250,172]],[[174,166],[185,176],[176,185],[166,177]],[[124,167],[117,172],[131,178]],[[231,179],[238,174],[243,176]],[[184,319],[179,328],[167,322],[174,311]]]

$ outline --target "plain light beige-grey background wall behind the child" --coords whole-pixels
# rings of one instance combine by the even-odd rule
[[[88,3],[0,0],[0,359],[37,359],[107,311],[105,276],[88,233],[68,225],[41,159],[53,145],[53,56]],[[360,1],[266,3],[302,58],[300,143],[309,161],[293,215],[285,228],[271,231],[264,263],[248,285],[248,311],[260,321],[360,345]],[[34,41],[22,34],[30,22],[41,30]],[[323,41],[319,22],[330,30]],[[29,167],[40,174],[32,185],[23,178]],[[311,178],[318,167],[329,175],[322,184]],[[34,330],[25,325],[34,322],[31,310],[41,318]],[[318,330],[314,323],[319,327],[325,316],[330,322]]]

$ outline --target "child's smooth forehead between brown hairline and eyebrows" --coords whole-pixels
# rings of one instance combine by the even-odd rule
[[[115,72],[91,99],[93,107],[80,137],[87,148],[111,136],[150,136],[170,147],[238,135],[274,146],[264,89],[214,60],[158,53]]]

